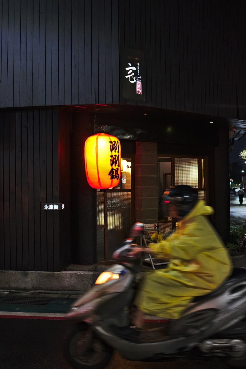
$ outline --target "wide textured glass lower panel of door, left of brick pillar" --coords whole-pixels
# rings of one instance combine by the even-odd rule
[[[108,251],[111,259],[131,228],[131,193],[108,193]]]

